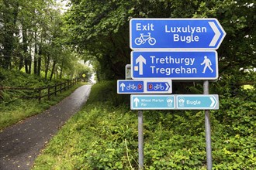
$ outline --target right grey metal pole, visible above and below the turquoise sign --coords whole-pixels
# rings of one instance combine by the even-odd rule
[[[203,94],[209,94],[209,81],[203,82]],[[211,170],[213,167],[212,162],[212,146],[211,146],[211,125],[209,110],[205,110],[205,127],[206,127],[206,161],[207,170]]]

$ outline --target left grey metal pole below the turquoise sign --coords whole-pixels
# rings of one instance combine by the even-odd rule
[[[143,111],[138,111],[139,170],[144,169]]]

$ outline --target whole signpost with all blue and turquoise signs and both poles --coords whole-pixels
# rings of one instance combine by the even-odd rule
[[[171,93],[168,80],[204,80],[202,95],[130,96],[131,110],[139,110],[139,170],[144,169],[142,110],[187,109],[205,110],[207,169],[212,169],[209,110],[219,109],[219,97],[209,95],[209,80],[219,77],[215,49],[225,36],[226,32],[217,19],[130,20],[130,49],[135,51],[131,53],[130,70],[127,71],[126,66],[126,73],[131,72],[129,78],[142,81],[139,84],[143,86],[136,85],[135,81],[119,80],[118,93]],[[127,87],[133,87],[133,90]],[[138,91],[136,87],[142,89]]]

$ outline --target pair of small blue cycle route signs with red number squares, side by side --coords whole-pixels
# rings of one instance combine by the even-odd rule
[[[171,93],[171,80],[117,80],[117,93]]]

